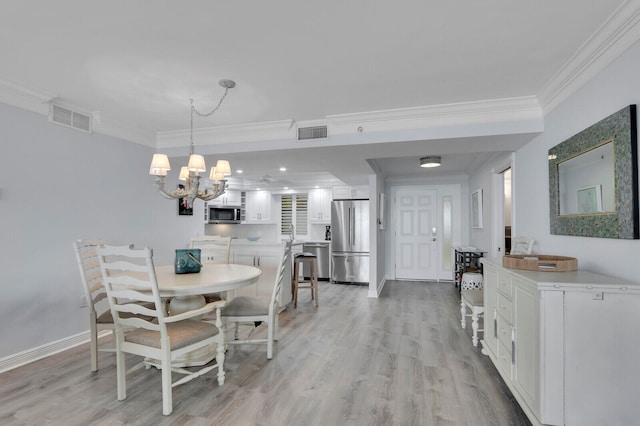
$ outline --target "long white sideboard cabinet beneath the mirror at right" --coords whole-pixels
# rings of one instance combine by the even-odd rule
[[[482,258],[488,355],[534,425],[640,422],[640,285]]]

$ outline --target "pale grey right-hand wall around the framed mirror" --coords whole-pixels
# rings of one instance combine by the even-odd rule
[[[580,269],[638,281],[640,241],[550,234],[547,154],[549,148],[630,104],[640,104],[640,45],[621,55],[545,117],[545,131],[516,152],[514,218],[517,233],[536,239],[534,252],[573,256]],[[491,197],[488,170],[472,176]],[[485,198],[485,215],[487,210]],[[489,201],[490,202],[490,201]],[[486,218],[486,216],[485,216]],[[487,230],[473,232],[477,246],[490,241]]]

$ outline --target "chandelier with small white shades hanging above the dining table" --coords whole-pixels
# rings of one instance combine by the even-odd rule
[[[209,173],[210,184],[200,185],[200,173],[207,171],[207,166],[204,163],[204,157],[202,155],[193,153],[193,115],[197,114],[200,117],[209,117],[213,115],[222,105],[222,101],[227,96],[229,89],[236,87],[236,83],[233,80],[220,80],[218,83],[221,87],[224,87],[224,95],[220,98],[218,105],[209,113],[203,114],[196,110],[193,106],[193,99],[191,99],[191,139],[189,146],[189,164],[182,166],[180,169],[180,175],[178,180],[184,181],[184,184],[179,185],[179,189],[175,191],[167,191],[165,189],[165,180],[167,172],[171,170],[169,164],[169,157],[167,154],[153,154],[151,160],[151,166],[149,167],[149,174],[155,176],[155,185],[160,194],[168,199],[183,198],[191,205],[196,198],[200,198],[204,201],[213,200],[224,194],[227,188],[226,176],[231,175],[231,166],[227,160],[218,160],[215,167],[211,167]]]

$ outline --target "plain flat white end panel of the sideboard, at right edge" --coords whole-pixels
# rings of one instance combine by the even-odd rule
[[[638,424],[640,295],[565,294],[567,425]]]

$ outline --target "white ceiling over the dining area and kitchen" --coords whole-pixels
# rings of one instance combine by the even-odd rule
[[[196,117],[196,129],[517,97],[543,103],[549,83],[626,3],[22,0],[0,15],[0,83],[87,111],[96,129],[133,129],[142,143],[187,131],[189,100],[208,112],[221,79],[237,87],[213,116]],[[536,134],[516,133],[210,151],[247,180],[362,184],[371,164],[387,177],[465,174]],[[432,154],[443,166],[420,169],[419,157]]]

